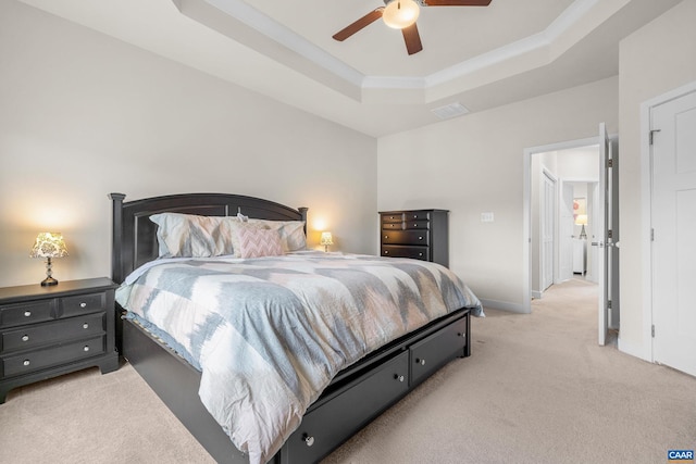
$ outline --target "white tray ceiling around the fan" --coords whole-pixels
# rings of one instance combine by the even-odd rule
[[[619,41],[680,0],[426,7],[413,55],[381,21],[332,38],[382,0],[21,1],[380,137],[617,75]]]

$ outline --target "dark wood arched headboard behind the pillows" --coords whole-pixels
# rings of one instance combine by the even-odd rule
[[[307,208],[294,210],[260,198],[226,193],[182,193],[124,202],[123,193],[110,193],[113,203],[111,278],[123,283],[138,266],[158,258],[157,225],[149,216],[184,213],[200,216],[235,216],[271,221],[304,221]]]

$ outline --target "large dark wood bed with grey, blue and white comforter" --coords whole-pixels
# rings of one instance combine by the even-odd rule
[[[216,221],[215,224],[224,222],[234,225],[235,230],[244,228],[245,234],[248,233],[249,224],[239,226],[236,224],[237,221],[252,223],[256,224],[254,239],[258,237],[256,229],[263,229],[258,234],[265,234],[264,237],[272,236],[271,241],[277,247],[278,243],[274,241],[276,234],[268,229],[275,230],[276,224],[293,224],[295,234],[297,223],[301,223],[301,233],[306,234],[307,209],[293,209],[259,198],[222,193],[174,195],[128,202],[124,201],[124,195],[111,193],[110,199],[113,206],[112,279],[122,285],[122,297],[117,298],[121,303],[117,310],[122,315],[117,321],[116,330],[119,350],[217,462],[318,462],[443,365],[456,358],[471,354],[470,317],[472,314],[481,314],[481,303],[458,278],[453,277],[453,274],[437,264],[415,260],[311,252],[294,250],[291,247],[288,250],[288,243],[291,242],[288,237],[283,242],[283,252],[275,253],[281,254],[279,256],[274,253],[261,253],[258,258],[248,254],[190,260],[190,256],[184,253],[182,258],[170,258],[167,254],[166,259],[162,259],[165,241],[162,230],[165,230],[166,226],[161,220],[159,226],[154,222],[161,216],[171,217],[178,214]],[[234,247],[243,249],[246,253],[246,246],[245,242],[240,247],[236,241]],[[165,246],[164,251],[167,251]],[[224,254],[226,251],[221,253]],[[375,281],[374,288],[365,287],[359,280],[353,281],[353,276],[365,269],[370,281]],[[192,280],[181,284],[194,272],[197,274]],[[394,272],[398,276],[414,272],[415,278],[406,276],[403,279],[411,284],[417,281],[418,285],[412,286],[418,287],[419,292],[423,291],[424,297],[417,302],[395,297],[395,301],[402,308],[387,315],[378,312],[372,314],[372,310],[369,309],[373,305],[380,306],[373,303],[374,300],[383,302],[384,294],[394,292],[394,288],[405,287],[403,281],[407,281],[399,280],[402,277],[398,277],[398,281],[395,283],[395,277],[390,274],[387,276],[387,272]],[[203,274],[206,279],[213,283],[204,284],[203,277],[199,274]],[[261,276],[272,276],[272,281],[259,283]],[[318,283],[314,284],[313,279]],[[152,289],[151,283],[174,284],[171,288]],[[288,286],[290,290],[277,289],[278,283]],[[330,286],[333,287],[324,288],[325,283],[331,283]],[[350,289],[351,283],[355,287],[351,291],[360,293],[356,301],[364,303],[364,308],[358,305],[358,313],[360,317],[365,317],[364,321],[356,318],[352,313],[349,316],[344,316],[343,313],[340,316],[336,315],[338,313],[334,314],[335,304],[324,304],[324,300],[321,303],[307,303],[311,306],[311,311],[307,310],[311,314],[311,324],[285,318],[286,313],[295,314],[306,310],[303,302],[310,300],[304,300],[304,294],[310,287],[316,287],[322,298],[336,298],[336,294],[345,292],[345,288]],[[435,287],[433,283],[437,284],[440,291],[436,297],[427,290]],[[235,308],[235,316],[227,317],[231,310],[226,308],[222,310],[223,316],[219,313],[214,316],[208,314],[207,306],[201,310],[206,311],[206,321],[217,321],[221,317],[225,319],[214,329],[201,329],[203,326],[199,324],[202,317],[200,315],[190,316],[195,319],[195,324],[191,324],[196,326],[195,330],[181,329],[185,324],[178,319],[166,326],[175,314],[183,312],[183,306],[195,306],[196,311],[199,311],[204,306],[201,301],[208,301],[211,293],[221,291],[220,288],[227,289],[232,286],[244,288],[246,291],[254,285],[259,285],[258,288],[261,289],[257,290],[257,293],[274,298],[272,303],[264,304],[271,304],[275,312],[268,312],[277,315],[279,311],[284,315],[283,323],[272,329],[264,326],[249,336],[246,327],[250,324],[235,322],[241,318],[237,314],[248,312],[257,317],[259,310],[256,302],[249,303],[246,296],[237,297],[236,293],[233,298],[216,297],[217,300],[235,300],[234,304],[244,306],[244,311]],[[390,290],[381,289],[380,293],[377,287],[381,286]],[[184,297],[175,293],[182,293]],[[191,297],[194,293],[198,294],[198,299]],[[293,294],[286,298],[290,293]],[[353,301],[356,294],[346,293],[341,301]],[[302,311],[283,308],[290,300],[301,300],[302,303],[296,306]],[[440,300],[446,301],[446,305],[449,306],[455,304],[452,301],[458,304],[456,308],[444,309],[439,308],[445,304]],[[138,309],[135,304],[138,301],[153,305]],[[153,301],[159,302],[159,305],[154,305]],[[400,303],[401,301],[403,303]],[[331,312],[327,310],[330,306]],[[425,313],[428,314],[427,317],[423,316]],[[244,321],[247,321],[250,316],[245,317],[247,318]],[[331,323],[325,323],[326,318],[332,318]],[[187,319],[184,317],[184,321]],[[320,324],[318,321],[323,322]],[[346,321],[351,322],[349,324]],[[346,328],[351,324],[360,327],[360,330],[353,331],[361,331],[361,337],[356,337],[352,329]],[[253,322],[251,325],[256,327],[257,323]],[[222,326],[225,326],[225,329],[222,329]],[[241,326],[245,328],[241,329]],[[400,327],[399,330],[402,333],[393,334],[391,326]],[[336,327],[339,327],[339,331],[348,334],[348,339],[335,341]],[[182,341],[174,338],[177,330],[192,335]],[[201,331],[204,335],[201,336]],[[244,337],[239,335],[243,331]],[[289,335],[284,336],[286,338],[281,341],[271,341],[279,331]],[[232,334],[229,338],[237,341],[227,341],[227,338],[224,338],[224,342],[220,341],[223,340],[223,336],[219,336],[220,333]],[[265,334],[272,334],[273,337],[266,337]],[[253,338],[254,341],[251,342],[245,337]],[[271,344],[257,347],[254,343],[261,338],[266,338],[268,340],[262,341],[269,341]],[[192,340],[198,343],[199,339],[203,341],[195,344]],[[307,346],[300,346],[304,343],[303,340],[307,340]],[[212,352],[217,354],[213,356]],[[251,365],[252,361],[249,360],[259,358],[259,353],[263,364],[259,372],[256,372],[256,364]],[[225,359],[224,363],[238,363],[239,360],[244,362],[240,366],[235,364],[229,368],[225,364],[223,368],[220,367],[223,361],[217,361],[219,358]],[[270,360],[277,364],[272,364]],[[288,365],[297,368],[286,375]],[[234,371],[235,376],[238,372],[245,371],[252,374],[244,384],[239,384],[240,380],[236,377],[229,377],[229,371]],[[262,372],[265,374],[261,375]],[[276,377],[282,380],[277,380],[277,388]],[[227,381],[228,379],[232,380]],[[241,401],[239,392],[246,391],[251,384],[258,384],[261,390],[265,391],[264,394],[271,398],[263,398],[253,391],[253,394],[245,394]],[[229,388],[229,385],[235,387]],[[225,391],[222,391],[223,386]],[[227,390],[232,392],[228,393]],[[291,401],[285,402],[284,394],[276,394],[286,390]],[[247,398],[253,398],[253,401],[247,401]],[[279,412],[272,411],[266,414],[266,410],[272,410],[266,402],[273,403],[274,407],[279,406]],[[244,404],[239,405],[241,403]],[[243,411],[245,414],[246,411],[251,411],[250,417],[256,422],[246,418],[247,416],[241,414]],[[229,423],[226,422],[228,417]],[[243,429],[235,421],[253,424],[257,428],[251,427],[249,431],[245,425]],[[268,432],[266,428],[272,432]],[[263,436],[259,438],[259,443],[256,442],[257,435]],[[268,440],[265,435],[270,435]],[[241,443],[239,448],[243,451],[233,440]]]

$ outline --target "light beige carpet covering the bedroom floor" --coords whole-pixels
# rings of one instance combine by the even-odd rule
[[[530,315],[486,313],[473,318],[471,358],[324,463],[652,464],[696,448],[696,378],[598,347],[595,286],[554,286]],[[124,365],[12,391],[0,405],[0,462],[212,460]]]

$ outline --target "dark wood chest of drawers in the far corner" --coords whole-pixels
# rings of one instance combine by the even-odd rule
[[[380,212],[380,254],[449,265],[447,210]]]

